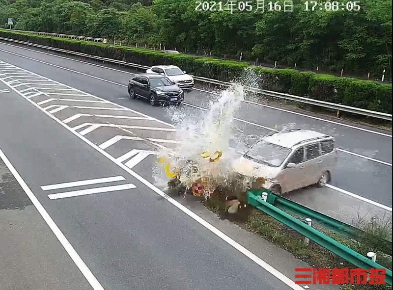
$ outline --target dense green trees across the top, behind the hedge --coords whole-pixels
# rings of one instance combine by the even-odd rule
[[[360,0],[360,11],[305,11],[304,0],[293,0],[292,13],[267,11],[266,0],[255,12],[256,3],[231,13],[196,11],[194,0],[0,0],[0,27],[11,17],[14,29],[391,75],[392,0]]]

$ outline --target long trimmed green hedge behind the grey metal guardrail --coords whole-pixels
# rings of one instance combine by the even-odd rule
[[[261,89],[307,96],[312,99],[392,114],[392,85],[351,78],[339,78],[293,69],[266,69],[247,62],[185,54],[111,46],[80,40],[11,32],[0,29],[0,37],[31,42],[79,53],[97,55],[140,65],[173,64],[187,73],[210,79],[242,79]],[[247,83],[248,82],[248,83]]]

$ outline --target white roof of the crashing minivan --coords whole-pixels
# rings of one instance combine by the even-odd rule
[[[264,140],[281,147],[292,148],[299,143],[307,142],[313,139],[329,137],[331,136],[311,130],[294,129],[274,133],[270,136],[267,136]]]

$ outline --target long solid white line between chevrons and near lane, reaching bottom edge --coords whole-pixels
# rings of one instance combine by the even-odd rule
[[[16,93],[19,93],[17,90],[14,90]],[[196,213],[194,213],[193,211],[189,210],[188,208],[186,208],[185,206],[183,206],[182,204],[180,204],[179,202],[177,202],[176,200],[174,200],[173,198],[171,198],[170,196],[168,196],[165,192],[163,192],[162,190],[160,190],[158,187],[152,185],[151,183],[149,183],[147,180],[145,180],[144,178],[142,178],[139,174],[137,174],[136,172],[134,172],[133,170],[131,170],[130,168],[128,168],[127,166],[125,166],[123,163],[117,161],[115,158],[113,158],[110,154],[108,154],[107,152],[105,152],[105,150],[102,150],[101,148],[99,148],[97,145],[95,145],[94,143],[92,143],[91,141],[89,141],[87,138],[85,138],[84,136],[78,134],[77,132],[73,131],[70,127],[68,127],[66,124],[62,123],[59,119],[57,119],[54,115],[49,114],[47,111],[45,111],[42,107],[40,107],[39,105],[35,104],[34,102],[32,102],[31,100],[29,100],[28,98],[24,97],[22,94],[21,95],[23,98],[25,98],[26,100],[28,100],[28,102],[30,102],[30,104],[34,105],[36,108],[38,108],[39,110],[41,110],[42,112],[44,112],[47,116],[49,116],[50,118],[52,118],[53,120],[55,120],[58,124],[60,124],[60,126],[64,127],[65,129],[67,129],[69,132],[73,133],[75,136],[77,136],[78,138],[80,138],[81,140],[83,140],[86,144],[88,144],[89,146],[91,146],[92,148],[94,148],[95,150],[97,150],[98,152],[100,152],[102,155],[104,155],[106,158],[110,159],[112,162],[116,163],[120,168],[124,169],[126,172],[128,172],[130,175],[132,175],[133,177],[135,177],[137,180],[139,180],[142,184],[146,185],[148,188],[150,188],[151,190],[153,190],[154,192],[156,192],[158,195],[160,195],[161,197],[165,198],[169,203],[171,203],[173,206],[175,206],[177,209],[179,209],[180,211],[183,211],[185,214],[187,214],[188,216],[190,216],[192,219],[194,219],[195,221],[197,221],[199,224],[201,224],[202,226],[204,226],[206,229],[208,229],[209,231],[211,231],[213,234],[215,234],[217,237],[220,237],[222,240],[224,240],[226,243],[228,243],[229,245],[231,245],[233,248],[235,248],[236,250],[238,250],[239,252],[241,252],[242,254],[244,254],[246,257],[248,257],[250,260],[252,260],[255,264],[258,264],[260,267],[262,267],[263,269],[265,269],[266,271],[268,271],[269,273],[271,273],[273,276],[275,276],[276,278],[278,278],[281,282],[283,282],[284,284],[286,284],[288,287],[292,288],[293,290],[303,290],[302,287],[300,287],[299,285],[296,285],[294,281],[292,281],[291,279],[289,279],[288,277],[286,277],[284,274],[282,274],[280,271],[278,271],[277,269],[275,269],[274,267],[272,267],[270,264],[267,264],[265,261],[263,261],[262,259],[260,259],[258,256],[256,256],[255,254],[253,254],[251,251],[249,251],[248,249],[246,249],[245,247],[243,247],[241,244],[239,244],[238,242],[236,242],[235,240],[233,240],[232,238],[228,237],[227,235],[225,235],[223,232],[221,232],[219,229],[217,229],[216,227],[212,226],[210,223],[208,223],[207,221],[205,221],[203,218],[201,218],[200,216],[198,216]],[[43,208],[42,208],[43,209]],[[70,245],[71,246],[71,245]],[[81,260],[82,262],[82,260]],[[97,281],[98,283],[98,281]],[[91,285],[91,283],[90,283]],[[99,288],[94,288],[94,290],[99,289]],[[100,288],[102,289],[102,287]]]

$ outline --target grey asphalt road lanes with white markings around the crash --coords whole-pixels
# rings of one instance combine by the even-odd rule
[[[5,44],[0,61],[0,149],[104,289],[296,289],[151,184],[175,130],[165,109],[127,98],[129,72]],[[202,116],[214,98],[194,90],[180,109]],[[289,198],[346,222],[392,215],[388,133],[252,103],[237,117],[245,134],[336,136],[332,184]]]

